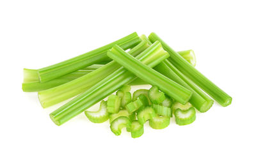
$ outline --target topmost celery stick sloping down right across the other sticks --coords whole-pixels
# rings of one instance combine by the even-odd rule
[[[161,91],[168,94],[178,102],[188,102],[192,95],[191,91],[141,63],[138,59],[132,57],[130,54],[118,47],[118,45],[115,45],[111,50],[112,52],[109,51],[108,56],[124,66],[130,72],[134,73],[134,75],[154,86],[159,87]],[[115,52],[113,50],[115,50]]]

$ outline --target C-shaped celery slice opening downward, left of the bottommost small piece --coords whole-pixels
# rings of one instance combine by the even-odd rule
[[[130,128],[131,121],[128,117],[120,116],[117,117],[114,121],[110,124],[110,129],[115,135],[120,135],[122,132],[122,128]]]

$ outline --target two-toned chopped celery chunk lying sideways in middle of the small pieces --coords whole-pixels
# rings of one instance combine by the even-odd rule
[[[137,100],[135,100],[134,102],[128,103],[127,105],[125,105],[125,108],[128,110],[128,112],[131,113],[147,105],[148,105],[147,97],[143,94],[140,94]]]

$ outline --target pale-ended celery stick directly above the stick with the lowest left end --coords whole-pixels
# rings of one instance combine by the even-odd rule
[[[143,52],[143,50],[147,49],[148,47],[149,45],[145,43],[145,41],[142,41],[129,52],[136,52],[136,54],[133,53],[132,56],[137,56],[138,52]],[[62,84],[61,86],[40,91],[38,93],[40,103],[42,107],[45,108],[56,103],[63,102],[68,98],[72,98],[77,94],[83,93],[84,91],[90,89],[90,87],[111,75],[113,71],[117,70],[118,68],[120,68],[120,64],[116,63],[115,61],[111,61],[101,68],[79,77],[78,79],[67,82],[66,84]]]

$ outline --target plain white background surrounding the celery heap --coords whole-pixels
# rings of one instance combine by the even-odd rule
[[[1,1],[0,165],[256,165],[254,3]],[[195,50],[196,68],[232,96],[232,105],[214,103],[188,126],[172,119],[154,130],[147,123],[132,139],[84,114],[56,126],[49,113],[60,105],[42,109],[36,93],[22,92],[22,68],[49,66],[134,31]]]

